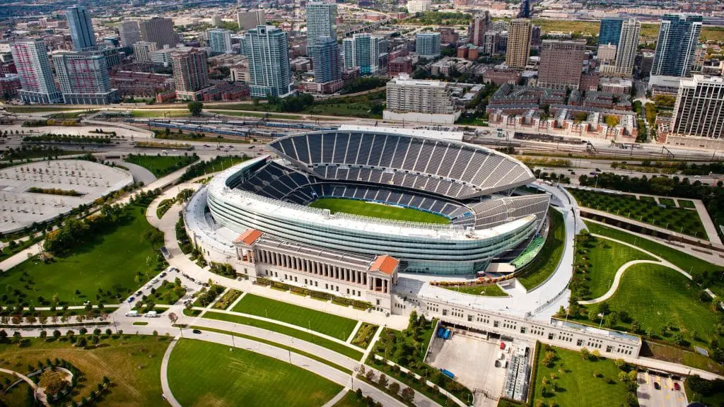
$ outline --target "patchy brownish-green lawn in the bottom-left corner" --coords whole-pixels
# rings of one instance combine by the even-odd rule
[[[84,375],[79,382],[80,389],[73,397],[75,401],[88,396],[90,390],[95,390],[96,385],[107,376],[111,379],[111,389],[98,405],[160,406],[164,403],[161,400],[161,358],[169,341],[165,337],[114,337],[116,339],[103,335],[98,348],[88,349],[76,348],[65,339],[51,342],[31,339],[27,348],[2,344],[0,366],[27,373],[28,364],[35,365],[48,358],[64,359]]]

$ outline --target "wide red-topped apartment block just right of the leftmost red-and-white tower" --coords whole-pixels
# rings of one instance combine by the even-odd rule
[[[53,65],[66,104],[111,104],[119,101],[111,89],[108,63],[102,52],[58,52]]]

